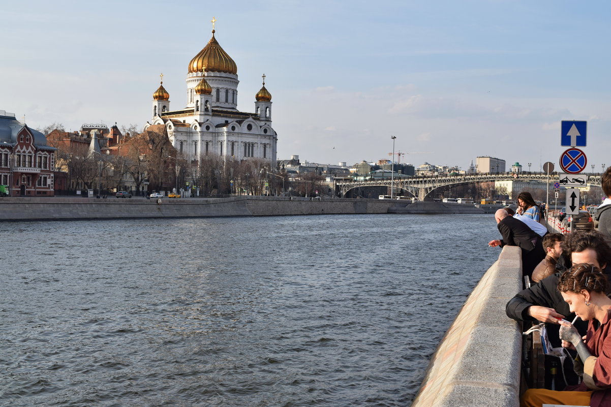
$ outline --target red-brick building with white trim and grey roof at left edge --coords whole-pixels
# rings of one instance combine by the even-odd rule
[[[10,196],[53,196],[55,152],[44,134],[0,110],[0,185]]]

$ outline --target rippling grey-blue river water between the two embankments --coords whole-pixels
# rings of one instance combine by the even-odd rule
[[[9,222],[0,405],[409,406],[492,215]]]

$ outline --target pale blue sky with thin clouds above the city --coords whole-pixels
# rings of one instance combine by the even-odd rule
[[[0,109],[32,128],[142,128],[164,74],[215,37],[238,109],[265,73],[280,160],[459,166],[494,156],[558,169],[562,120],[587,120],[587,172],[611,165],[611,2],[0,0]]]

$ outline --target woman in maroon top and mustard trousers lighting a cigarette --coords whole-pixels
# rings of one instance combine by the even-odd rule
[[[560,323],[563,347],[574,347],[578,355],[576,364],[579,359],[583,362],[583,381],[560,392],[529,389],[522,395],[522,407],[611,406],[611,299],[605,295],[608,284],[598,267],[586,263],[573,265],[560,276],[558,290],[571,312],[589,321],[584,338],[570,323]]]

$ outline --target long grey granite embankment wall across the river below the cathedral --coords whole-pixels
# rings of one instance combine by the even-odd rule
[[[213,216],[352,215],[388,213],[395,205],[379,199],[310,200],[287,197],[222,199],[0,198],[0,221]]]

